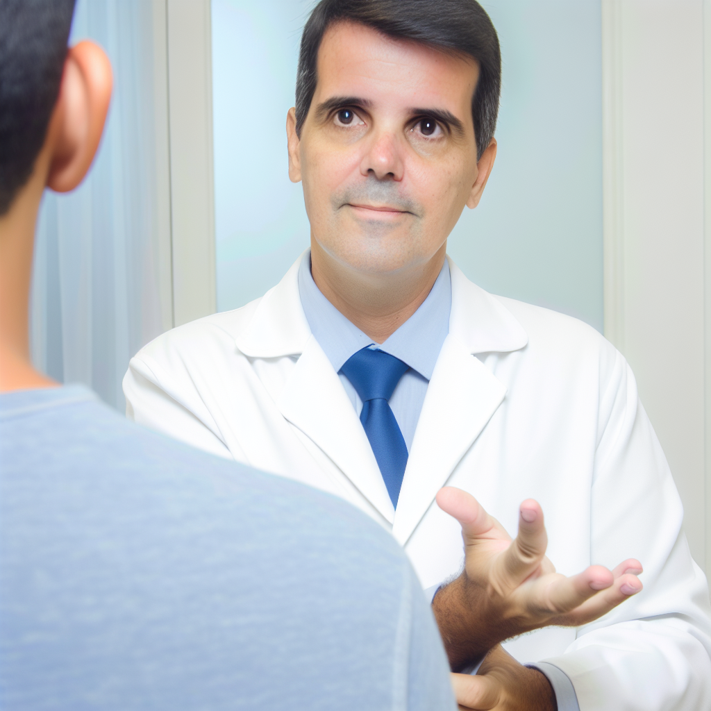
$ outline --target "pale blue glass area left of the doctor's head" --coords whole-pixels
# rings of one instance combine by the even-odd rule
[[[218,311],[279,282],[309,246],[301,184],[287,175],[301,27],[310,0],[213,0]]]

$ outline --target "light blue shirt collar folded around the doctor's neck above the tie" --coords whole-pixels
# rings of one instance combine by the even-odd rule
[[[361,348],[373,345],[373,339],[351,324],[331,301],[321,294],[311,276],[311,251],[304,254],[299,264],[299,297],[309,321],[311,333],[338,373],[343,363]],[[449,333],[451,311],[451,277],[449,262],[444,260],[442,271],[435,279],[427,298],[419,309],[381,343],[380,351],[395,355],[429,380],[437,362],[442,343]]]

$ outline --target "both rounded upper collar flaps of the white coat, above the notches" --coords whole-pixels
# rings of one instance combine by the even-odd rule
[[[237,348],[250,358],[301,355],[311,337],[299,298],[299,264],[302,254],[276,287],[262,296],[246,328],[235,333]],[[467,279],[449,260],[451,314],[449,333],[469,353],[518,351],[528,335],[501,301]],[[247,314],[245,314],[247,315]]]

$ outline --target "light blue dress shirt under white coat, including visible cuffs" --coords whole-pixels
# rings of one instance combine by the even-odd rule
[[[400,432],[405,439],[407,451],[412,448],[415,439],[415,429],[419,413],[422,412],[424,395],[427,392],[429,379],[432,378],[434,363],[437,363],[442,343],[449,333],[449,313],[451,311],[451,276],[449,262],[444,260],[442,271],[422,301],[419,309],[405,321],[400,328],[392,333],[383,343],[375,344],[373,338],[366,336],[363,331],[351,324],[331,301],[321,294],[319,287],[311,276],[311,251],[306,252],[299,264],[299,297],[301,306],[309,321],[311,333],[314,334],[319,346],[331,361],[333,370],[336,370],[341,383],[353,402],[355,412],[360,416],[363,402],[351,385],[351,381],[341,373],[343,363],[351,358],[353,353],[360,351],[365,346],[379,348],[380,351],[395,355],[395,358],[410,365],[405,375],[400,379],[390,397],[390,409],[395,415]],[[435,585],[425,591],[430,600],[434,597],[439,586]],[[538,669],[546,675],[557,700],[558,711],[580,711],[577,696],[572,682],[565,672],[557,666],[540,662],[528,666]],[[476,673],[479,665],[472,670]]]

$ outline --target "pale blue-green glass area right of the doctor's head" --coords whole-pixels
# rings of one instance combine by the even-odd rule
[[[599,0],[489,0],[503,90],[496,165],[448,251],[494,294],[602,333],[602,27]]]

